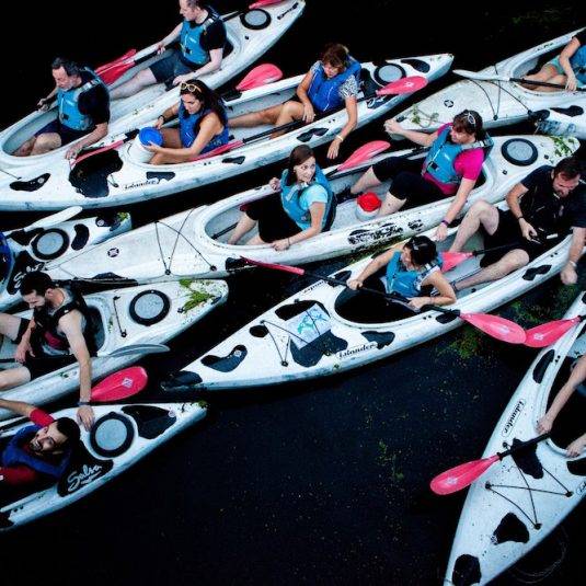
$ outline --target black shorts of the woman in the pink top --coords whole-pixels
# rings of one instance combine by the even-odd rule
[[[423,206],[448,197],[422,175],[421,159],[389,157],[372,165],[372,172],[381,183],[392,181],[390,193],[398,199],[409,199],[410,206]]]

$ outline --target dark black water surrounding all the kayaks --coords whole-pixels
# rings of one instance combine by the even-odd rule
[[[263,59],[286,74],[307,68],[326,41],[342,41],[364,60],[451,51],[457,67],[479,69],[585,21],[584,3],[568,1],[309,3]],[[8,106],[0,125],[48,92],[54,56],[96,65],[160,38],[177,22],[173,0],[157,2],[157,13],[154,3],[39,4],[3,7]],[[19,37],[9,42],[12,31]],[[25,47],[31,60],[15,57]],[[380,123],[365,128],[342,156],[383,137]],[[256,185],[275,169],[130,211],[137,223],[151,221]],[[1,226],[28,218],[3,214]],[[160,377],[306,284],[280,274],[234,278],[226,307],[177,338],[170,357],[145,361],[153,380],[147,399],[160,397]],[[552,281],[504,314],[521,323],[527,312],[561,314],[572,298]],[[39,583],[51,574],[88,585],[438,584],[464,495],[434,498],[427,483],[479,457],[533,356],[461,329],[343,376],[215,395],[199,427],[82,502],[2,536],[0,584]],[[522,563],[524,573],[507,573],[498,584],[527,583],[560,558],[560,548],[565,561],[543,584],[578,583],[583,516],[584,506]]]

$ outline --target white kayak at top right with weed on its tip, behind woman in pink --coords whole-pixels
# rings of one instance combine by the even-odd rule
[[[522,78],[559,55],[577,31],[519,53],[479,73]],[[564,107],[582,100],[579,92],[541,92],[510,81],[461,80],[401,112],[398,120],[410,130],[434,131],[463,110],[475,110],[486,128],[516,124],[538,110]]]

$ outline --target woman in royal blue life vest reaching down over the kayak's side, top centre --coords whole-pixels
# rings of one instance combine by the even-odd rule
[[[346,108],[347,122],[328,149],[328,158],[337,157],[340,145],[356,128],[360,87],[360,64],[340,44],[325,47],[321,59],[313,64],[297,87],[296,99],[258,112],[230,118],[229,126],[283,126],[294,120],[312,123],[317,115]],[[278,134],[274,135],[279,136]]]

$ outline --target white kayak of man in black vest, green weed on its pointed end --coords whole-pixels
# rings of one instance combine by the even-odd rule
[[[84,295],[93,317],[97,355],[92,358],[92,377],[104,377],[139,360],[226,300],[228,286],[223,280],[182,280],[160,283],[157,287],[140,286]],[[30,318],[31,311],[18,313]],[[130,348],[131,346],[131,348]],[[12,361],[15,345],[3,337],[0,367],[19,366]],[[2,399],[41,405],[55,401],[79,388],[78,363],[36,378],[2,393]],[[0,410],[0,420],[9,418]]]

